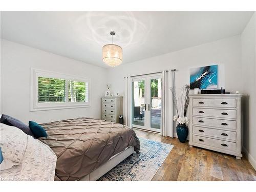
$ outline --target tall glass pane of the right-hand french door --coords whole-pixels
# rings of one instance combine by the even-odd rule
[[[151,79],[151,127],[160,130],[161,126],[161,79]]]

